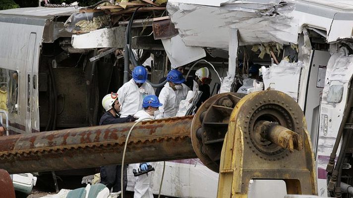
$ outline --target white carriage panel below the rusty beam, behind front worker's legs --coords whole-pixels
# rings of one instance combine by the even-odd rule
[[[153,163],[151,189],[158,195],[162,178],[163,162]],[[127,169],[127,190],[133,192],[135,178],[132,167]],[[177,198],[215,198],[217,197],[218,173],[204,166],[197,159],[186,159],[166,162],[162,195]]]

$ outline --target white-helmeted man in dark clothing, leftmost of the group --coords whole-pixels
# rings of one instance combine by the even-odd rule
[[[102,99],[103,108],[106,112],[101,117],[99,125],[106,124],[118,124],[124,122],[132,122],[136,119],[133,116],[120,118],[118,112],[120,111],[121,104],[118,100],[118,94],[113,93],[106,95]],[[127,186],[127,166],[124,165],[124,182],[123,192]],[[111,165],[101,167],[101,183],[106,185],[109,190],[113,188],[113,193],[117,193],[121,190],[121,165]]]

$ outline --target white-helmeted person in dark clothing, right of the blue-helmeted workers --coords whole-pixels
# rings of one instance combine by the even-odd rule
[[[212,81],[212,75],[207,67],[202,67],[195,72],[196,82],[198,85],[198,90],[202,92],[199,101],[196,103],[196,111],[201,106],[201,104],[209,99],[211,96],[209,84]]]

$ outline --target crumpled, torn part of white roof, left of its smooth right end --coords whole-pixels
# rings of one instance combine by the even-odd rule
[[[182,1],[182,0],[180,0]],[[187,46],[228,49],[229,29],[239,30],[239,44],[296,43],[297,26],[292,23],[294,3],[228,1],[205,6],[168,1],[171,20]]]

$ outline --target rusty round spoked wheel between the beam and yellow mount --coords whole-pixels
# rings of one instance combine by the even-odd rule
[[[207,99],[194,115],[191,141],[198,158],[209,169],[218,172],[224,137],[235,104],[245,94],[224,93]]]

